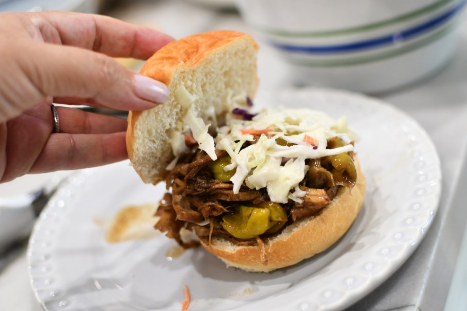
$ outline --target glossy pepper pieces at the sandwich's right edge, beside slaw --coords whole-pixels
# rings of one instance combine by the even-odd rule
[[[328,141],[328,149],[343,147],[344,143],[338,137],[333,137]],[[332,166],[330,169],[336,185],[352,188],[357,181],[357,170],[352,157],[348,153],[339,153],[334,156],[324,157],[321,161],[323,166]]]

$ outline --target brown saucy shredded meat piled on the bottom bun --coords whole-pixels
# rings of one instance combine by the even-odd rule
[[[216,154],[218,158],[227,155],[223,150],[217,150]],[[243,185],[239,193],[234,193],[232,183],[214,178],[213,172],[208,167],[212,161],[205,152],[196,147],[193,148],[192,153],[185,154],[179,159],[179,163],[167,175],[167,189],[172,188],[172,194],[165,194],[157,212],[160,220],[155,228],[167,232],[168,237],[176,239],[184,248],[192,247],[193,243],[181,240],[179,231],[183,227],[193,230],[208,245],[213,237],[220,237],[239,246],[260,246],[262,260],[267,262],[263,239],[268,239],[270,236],[237,239],[219,224],[222,215],[229,211],[229,207],[238,204],[256,206],[269,202],[266,190],[249,189]],[[300,187],[301,190],[306,191],[302,203],[289,201],[288,204],[282,205],[290,215],[289,221],[321,213],[331,203],[339,187],[341,186],[332,185],[325,189],[309,188],[306,187],[305,180]],[[205,220],[209,220],[209,226],[198,225]]]

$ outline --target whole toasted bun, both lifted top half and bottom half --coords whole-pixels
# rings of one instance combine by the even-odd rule
[[[169,97],[151,110],[129,114],[126,145],[133,167],[144,182],[164,180],[166,167],[175,158],[171,131],[184,131],[182,120],[187,109],[180,88],[189,93],[200,118],[216,123],[232,109],[232,104],[245,104],[246,96],[253,98],[258,85],[257,50],[254,40],[246,34],[215,31],[169,43],[147,60],[141,74],[165,83]],[[210,245],[202,240],[202,245],[227,265],[255,272],[283,268],[326,250],[345,234],[362,207],[365,178],[357,161],[356,165],[358,178],[351,193],[342,188],[322,213],[295,221],[268,240],[266,252],[219,238]],[[263,263],[265,253],[267,264]]]

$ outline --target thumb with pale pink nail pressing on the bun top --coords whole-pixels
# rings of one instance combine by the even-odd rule
[[[35,43],[35,42],[34,42]],[[35,46],[35,47],[34,47]],[[165,84],[139,75],[104,54],[82,48],[35,43],[24,74],[45,96],[78,97],[123,110],[152,108],[166,100]]]

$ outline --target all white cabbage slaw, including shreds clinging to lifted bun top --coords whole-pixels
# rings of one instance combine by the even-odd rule
[[[299,184],[308,170],[305,160],[353,151],[350,142],[355,138],[345,118],[335,121],[310,109],[266,108],[251,120],[244,119],[253,115],[239,119],[234,114],[227,114],[226,126],[217,129],[218,135],[214,139],[208,132],[211,124],[205,124],[203,120],[216,127],[215,109],[202,113],[195,111],[197,98],[183,86],[177,88],[175,96],[185,110],[183,123],[188,129],[183,130],[192,132],[199,148],[213,160],[217,159],[216,149],[225,150],[230,156],[231,163],[224,169],[236,169],[230,179],[234,193],[238,193],[245,183],[250,189],[266,188],[272,202],[287,203],[289,199],[302,202],[301,197],[306,192],[299,188]],[[244,99],[243,95],[228,94],[226,104],[233,108]],[[187,149],[181,131],[173,130],[169,135],[176,158],[167,169],[173,168]],[[326,149],[328,139],[333,137],[341,138],[346,145]]]

